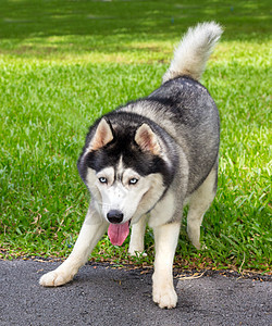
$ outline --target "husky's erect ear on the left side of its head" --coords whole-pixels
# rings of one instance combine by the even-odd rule
[[[100,123],[97,126],[96,134],[90,142],[89,151],[96,151],[113,139],[112,130],[109,123],[101,118]]]

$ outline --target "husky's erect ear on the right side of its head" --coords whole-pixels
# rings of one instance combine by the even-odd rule
[[[149,151],[154,155],[161,154],[161,148],[156,134],[147,124],[143,124],[135,134],[135,141],[143,151]]]

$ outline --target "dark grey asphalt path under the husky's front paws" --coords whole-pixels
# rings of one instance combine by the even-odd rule
[[[60,263],[0,261],[0,325],[272,325],[272,283],[225,277],[175,279],[178,304],[161,310],[151,273],[86,265],[59,288],[39,277]]]

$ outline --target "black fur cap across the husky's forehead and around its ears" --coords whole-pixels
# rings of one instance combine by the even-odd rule
[[[164,186],[169,187],[172,183],[176,164],[173,163],[170,165],[159,155],[141,151],[139,146],[135,142],[136,130],[143,123],[148,123],[153,129],[158,128],[158,126],[154,126],[154,124],[147,118],[126,112],[114,111],[106,115],[104,118],[111,125],[113,140],[103,148],[90,151],[84,156],[88,142],[91,139],[90,136],[95,134],[94,128],[97,127],[99,122],[90,128],[89,134],[86,137],[86,145],[83,149],[83,153],[77,162],[78,172],[83,180],[86,181],[88,167],[95,170],[97,173],[109,166],[112,166],[115,170],[122,158],[124,168],[133,168],[140,176],[159,173],[163,176]],[[160,131],[165,133],[162,130]]]

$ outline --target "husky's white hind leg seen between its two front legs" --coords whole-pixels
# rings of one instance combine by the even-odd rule
[[[131,241],[128,253],[131,255],[140,254],[144,252],[145,246],[145,231],[147,225],[147,215],[140,217],[138,223],[132,226]]]

